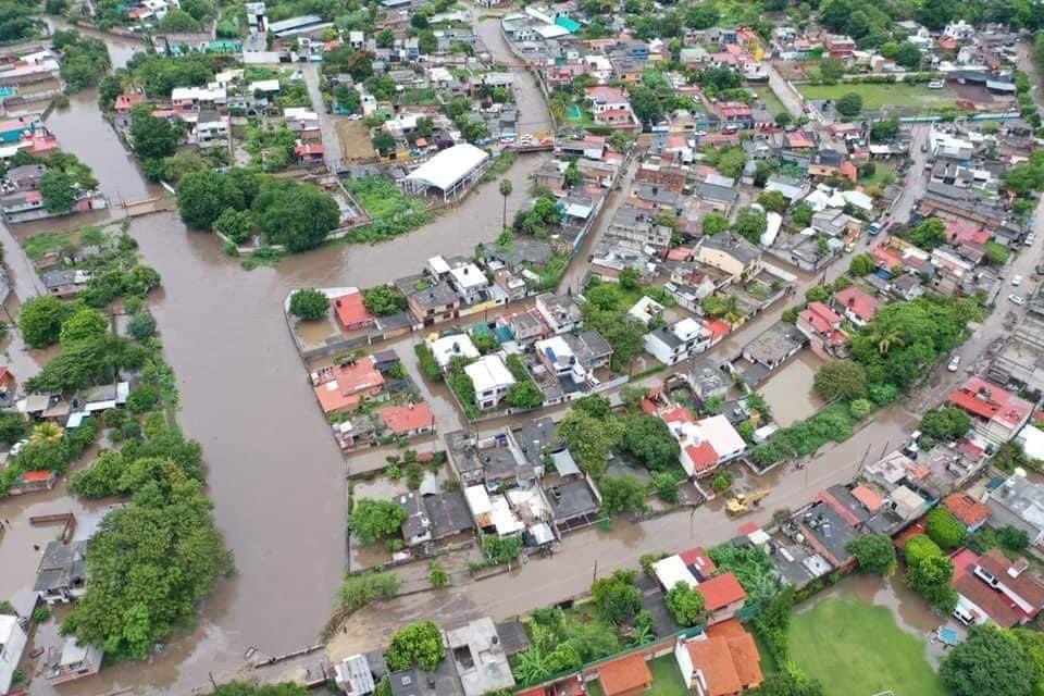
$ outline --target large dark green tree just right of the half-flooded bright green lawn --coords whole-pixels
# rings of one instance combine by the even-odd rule
[[[992,625],[972,626],[946,654],[939,676],[954,696],[1031,696],[1042,679],[1020,642]]]

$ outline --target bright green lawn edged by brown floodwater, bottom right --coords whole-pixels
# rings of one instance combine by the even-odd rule
[[[826,696],[946,696],[924,642],[895,623],[891,610],[823,599],[791,620],[788,657],[819,680]]]

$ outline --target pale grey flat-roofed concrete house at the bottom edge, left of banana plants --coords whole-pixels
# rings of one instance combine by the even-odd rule
[[[514,686],[508,656],[489,617],[447,630],[446,647],[447,656],[452,656],[464,696],[483,696]]]

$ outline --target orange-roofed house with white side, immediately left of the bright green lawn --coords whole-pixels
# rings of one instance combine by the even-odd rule
[[[679,641],[674,659],[696,696],[736,696],[765,680],[754,637],[735,619],[723,621],[691,641]]]

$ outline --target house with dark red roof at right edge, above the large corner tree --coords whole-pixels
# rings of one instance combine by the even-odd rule
[[[1029,570],[1029,561],[1010,560],[998,549],[984,556],[964,549],[954,555],[954,616],[965,623],[993,621],[1010,629],[1032,621],[1044,609],[1044,582]]]

